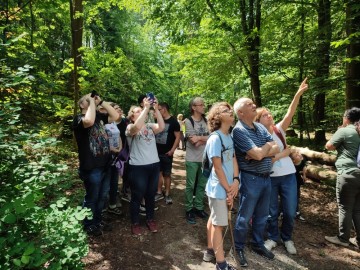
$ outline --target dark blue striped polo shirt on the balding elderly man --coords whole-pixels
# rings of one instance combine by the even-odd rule
[[[245,159],[246,153],[254,147],[262,147],[267,142],[272,142],[273,138],[267,129],[260,123],[254,122],[251,128],[239,120],[232,131],[234,139],[235,155],[239,165],[239,170],[246,170],[256,173],[271,172],[271,157],[262,160]]]

